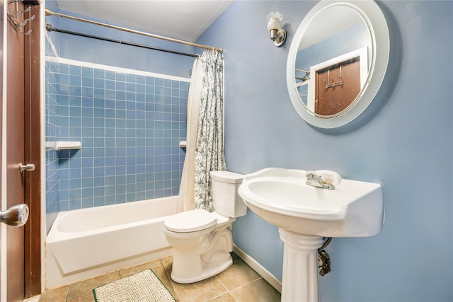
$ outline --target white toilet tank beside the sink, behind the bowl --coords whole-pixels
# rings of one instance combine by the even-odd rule
[[[212,202],[217,213],[229,217],[247,214],[247,206],[238,194],[243,175],[229,171],[211,171]]]

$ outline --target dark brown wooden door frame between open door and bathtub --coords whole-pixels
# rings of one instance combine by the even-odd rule
[[[25,2],[25,1],[24,1]],[[25,224],[25,298],[41,293],[41,77],[40,77],[40,2],[26,1],[35,19],[25,36],[25,163],[34,163],[33,172],[25,173],[25,204],[30,216]],[[43,79],[42,79],[43,81]]]

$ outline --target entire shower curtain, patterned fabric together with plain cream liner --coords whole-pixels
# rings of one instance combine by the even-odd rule
[[[222,54],[206,50],[195,59],[190,79],[187,145],[179,191],[183,211],[214,211],[210,171],[226,170],[224,156]]]

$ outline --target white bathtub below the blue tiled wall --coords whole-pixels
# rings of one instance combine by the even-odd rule
[[[166,216],[178,197],[60,212],[46,239],[46,288],[171,255]]]

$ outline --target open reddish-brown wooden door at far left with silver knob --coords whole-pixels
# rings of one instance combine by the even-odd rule
[[[23,10],[23,3],[6,9]],[[6,22],[6,207],[25,202],[25,173],[18,170],[25,161],[24,35]],[[23,301],[25,296],[24,227],[6,226],[7,299]]]

